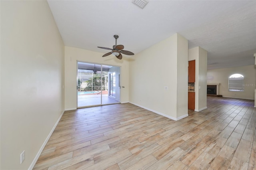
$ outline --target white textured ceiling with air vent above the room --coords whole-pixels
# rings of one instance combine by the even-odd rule
[[[97,46],[112,48],[117,34],[117,44],[136,54],[179,33],[188,39],[189,49],[200,46],[208,51],[208,69],[254,64],[256,0],[148,1],[144,9],[132,0],[48,4],[67,46],[107,53]]]

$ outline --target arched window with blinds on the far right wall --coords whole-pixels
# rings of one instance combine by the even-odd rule
[[[233,74],[228,78],[228,91],[244,91],[244,76]]]

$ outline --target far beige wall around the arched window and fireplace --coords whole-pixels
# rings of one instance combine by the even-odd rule
[[[244,92],[228,91],[228,77],[235,73],[244,75],[244,84],[248,85],[244,87]],[[254,65],[246,65],[241,67],[211,69],[207,71],[207,83],[220,83],[219,95],[223,97],[254,100],[256,67]]]

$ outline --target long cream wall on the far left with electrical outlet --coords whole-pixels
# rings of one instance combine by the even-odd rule
[[[47,1],[1,1],[0,41],[0,169],[25,170],[64,111],[64,45]]]

